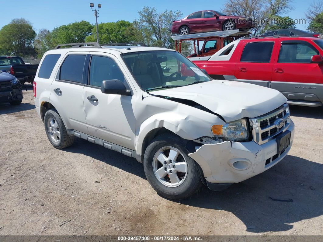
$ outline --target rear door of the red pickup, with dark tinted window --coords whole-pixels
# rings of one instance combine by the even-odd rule
[[[244,41],[244,44],[235,66],[234,80],[269,87],[274,65],[273,56],[276,53],[275,42]]]

